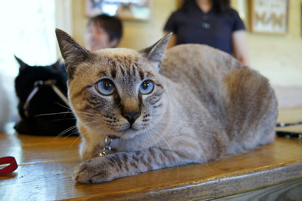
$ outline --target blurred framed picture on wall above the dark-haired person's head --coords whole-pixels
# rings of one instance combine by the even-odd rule
[[[147,21],[152,14],[152,0],[86,0],[85,7],[87,17],[107,14],[121,20]]]

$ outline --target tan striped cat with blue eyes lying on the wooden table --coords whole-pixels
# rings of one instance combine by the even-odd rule
[[[82,137],[75,181],[205,163],[274,141],[274,90],[227,53],[198,44],[165,53],[171,33],[138,51],[89,52],[62,30],[56,36]],[[97,157],[106,135],[114,151]]]

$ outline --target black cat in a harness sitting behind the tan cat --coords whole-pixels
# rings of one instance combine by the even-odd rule
[[[28,99],[40,80],[46,83],[47,80],[53,81],[62,94],[67,96],[67,74],[64,67],[61,70],[60,62],[49,66],[30,66],[18,57],[16,59],[20,64],[15,89],[21,118],[15,126],[16,131],[20,134],[41,136],[78,135],[74,128],[73,114],[50,85],[38,85],[37,92]]]

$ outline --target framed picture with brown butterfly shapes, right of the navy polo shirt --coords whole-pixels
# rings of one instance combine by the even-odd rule
[[[256,33],[285,34],[289,0],[250,0],[250,30]]]

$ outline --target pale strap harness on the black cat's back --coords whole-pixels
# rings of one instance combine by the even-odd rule
[[[66,98],[66,96],[61,92],[61,90],[55,85],[56,80],[46,80],[46,81],[42,81],[42,80],[38,80],[35,81],[34,83],[34,88],[33,90],[30,92],[30,94],[27,96],[26,98],[26,102],[23,105],[23,109],[24,109],[24,114],[26,117],[28,117],[28,106],[30,103],[30,100],[34,97],[34,95],[38,92],[38,90],[41,88],[42,85],[49,85],[51,86],[51,88],[53,89],[53,91],[63,100],[63,102],[68,106],[68,99]]]

